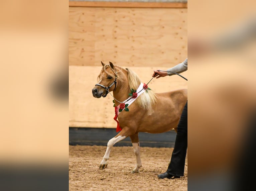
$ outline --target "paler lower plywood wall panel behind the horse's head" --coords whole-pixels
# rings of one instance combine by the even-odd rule
[[[169,65],[169,67],[172,66],[174,65]],[[139,74],[143,83],[147,83],[152,78],[152,71],[156,69],[155,67],[127,67]],[[101,68],[100,63],[97,67],[69,67],[69,126],[116,128],[116,122],[113,120],[115,111],[112,96],[108,95],[106,98],[94,98],[92,96],[92,88],[97,83],[97,76]],[[166,68],[160,67],[158,69]],[[182,75],[187,78],[187,72],[183,72]],[[187,88],[187,81],[179,76],[171,76],[153,79],[149,87],[156,93],[167,92]]]

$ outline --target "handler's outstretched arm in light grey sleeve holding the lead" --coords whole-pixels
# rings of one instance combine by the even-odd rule
[[[187,70],[187,59],[184,60],[182,63],[168,69],[167,72],[161,72],[161,71],[154,70],[154,73],[153,73],[152,77],[160,78],[160,77],[165,77],[167,75],[172,76],[174,74],[171,73],[171,72],[175,72],[175,73],[179,74],[179,73],[182,73],[186,70]]]

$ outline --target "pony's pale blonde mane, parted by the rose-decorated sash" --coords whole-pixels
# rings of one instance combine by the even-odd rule
[[[137,90],[141,80],[139,79],[138,75],[126,68],[128,71],[128,83],[130,89]],[[138,98],[135,100],[135,103],[138,104],[141,108],[151,110],[151,106],[154,105],[156,102],[156,95],[153,91],[148,90],[145,91],[143,94],[138,96]]]

